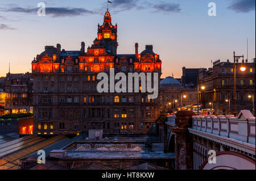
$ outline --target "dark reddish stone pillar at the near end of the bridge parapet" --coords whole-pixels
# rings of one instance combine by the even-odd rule
[[[193,111],[178,111],[176,113],[175,127],[171,131],[175,133],[175,169],[193,169],[193,141],[188,128],[192,127]]]

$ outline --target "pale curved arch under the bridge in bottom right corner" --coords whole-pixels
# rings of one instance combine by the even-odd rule
[[[255,170],[255,161],[233,151],[216,153],[216,163],[204,161],[200,170]]]

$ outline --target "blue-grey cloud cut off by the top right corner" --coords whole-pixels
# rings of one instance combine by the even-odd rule
[[[233,0],[233,3],[228,6],[228,9],[235,12],[255,11],[255,0]]]

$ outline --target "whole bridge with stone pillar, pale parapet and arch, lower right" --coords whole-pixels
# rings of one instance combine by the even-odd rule
[[[165,150],[175,152],[175,169],[255,170],[255,117],[248,110],[237,117],[179,111],[165,127]]]

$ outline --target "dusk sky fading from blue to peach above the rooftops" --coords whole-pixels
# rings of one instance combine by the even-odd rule
[[[162,60],[162,78],[180,78],[182,67],[210,68],[211,60],[233,60],[233,51],[255,58],[255,0],[110,0],[118,28],[118,54],[139,52],[152,44]],[[38,3],[46,16],[38,16]],[[93,44],[103,23],[105,0],[1,0],[0,77],[31,72],[31,61],[46,45],[80,50]],[[208,3],[216,4],[209,16]]]

